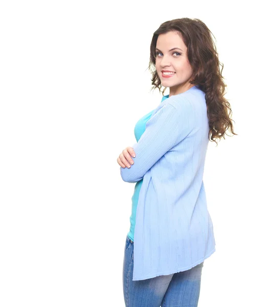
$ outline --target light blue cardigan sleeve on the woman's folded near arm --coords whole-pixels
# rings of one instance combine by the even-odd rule
[[[173,102],[171,100],[159,108],[146,122],[145,131],[139,141],[132,145],[136,152],[136,157],[131,157],[134,164],[130,168],[120,167],[123,181],[135,183],[143,179],[145,173],[169,149],[191,132],[195,122],[194,116],[192,104],[185,99]]]

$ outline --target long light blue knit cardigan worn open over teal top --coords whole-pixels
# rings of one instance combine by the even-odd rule
[[[215,252],[203,182],[209,143],[205,93],[197,86],[163,100],[132,145],[125,182],[143,179],[134,234],[132,280],[186,271]]]

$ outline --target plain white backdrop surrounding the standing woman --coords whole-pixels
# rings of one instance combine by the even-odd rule
[[[124,306],[135,184],[122,181],[117,158],[161,102],[147,70],[152,34],[181,17],[200,18],[216,38],[238,134],[208,147],[216,252],[205,261],[198,306],[263,304],[261,4],[1,2],[1,307]]]

